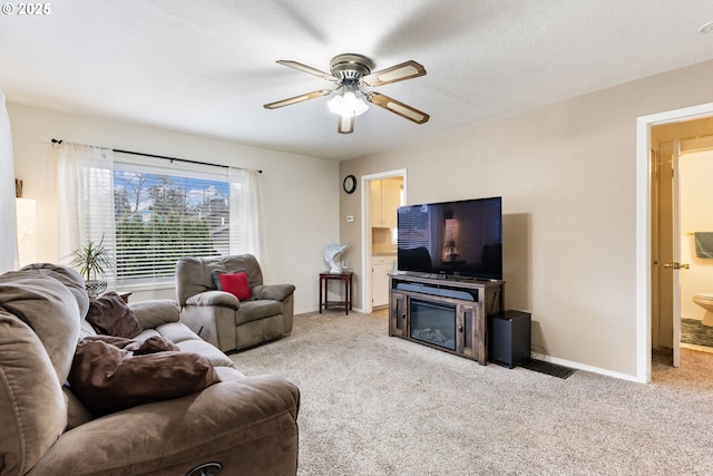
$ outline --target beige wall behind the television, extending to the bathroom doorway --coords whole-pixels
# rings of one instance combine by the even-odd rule
[[[533,313],[544,353],[633,378],[636,118],[713,101],[712,75],[707,61],[342,162],[340,175],[406,168],[408,203],[502,196],[506,308]],[[340,205],[353,253],[359,192]]]

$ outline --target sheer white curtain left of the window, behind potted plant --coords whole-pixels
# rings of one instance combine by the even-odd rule
[[[116,260],[114,152],[71,143],[61,143],[57,149],[60,261],[68,263],[72,251],[101,240]],[[106,276],[109,289],[116,285],[113,271]]]

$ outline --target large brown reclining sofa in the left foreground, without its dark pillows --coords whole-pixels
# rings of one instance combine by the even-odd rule
[[[296,474],[297,388],[241,373],[178,322],[175,301],[129,307],[136,342],[168,339],[182,357],[207,358],[221,381],[92,417],[66,383],[78,340],[96,334],[81,276],[51,264],[0,275],[0,475]]]

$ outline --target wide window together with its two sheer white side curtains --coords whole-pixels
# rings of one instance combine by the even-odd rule
[[[180,256],[260,260],[261,171],[71,143],[57,152],[60,253],[104,240],[110,288],[173,284]]]

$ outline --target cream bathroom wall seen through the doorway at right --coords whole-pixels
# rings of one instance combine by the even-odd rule
[[[696,292],[713,293],[713,259],[697,258],[692,232],[713,232],[713,150],[683,154],[678,162],[681,195],[681,317],[703,319],[705,310],[692,301]]]

